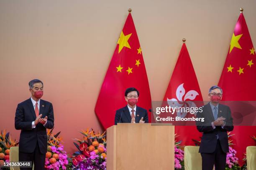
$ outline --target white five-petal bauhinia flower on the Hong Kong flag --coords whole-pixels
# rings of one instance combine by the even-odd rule
[[[171,107],[185,107],[185,109],[180,109],[177,112],[177,116],[179,116],[179,117],[185,117],[187,115],[187,112],[182,112],[182,111],[186,110],[187,107],[189,107],[189,108],[197,107],[197,105],[194,102],[192,102],[191,100],[194,100],[195,97],[197,95],[199,95],[198,92],[195,91],[195,90],[189,90],[186,93],[186,90],[184,89],[183,85],[184,85],[184,83],[179,85],[179,87],[176,90],[176,97],[177,98],[169,99],[167,97],[167,103],[168,103],[169,106],[171,106]],[[185,93],[186,93],[186,95],[185,95]]]

